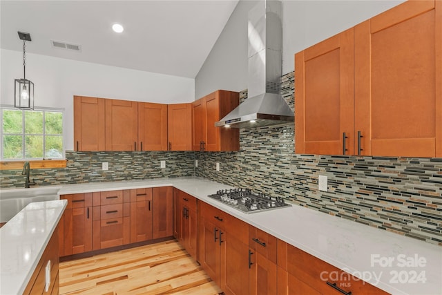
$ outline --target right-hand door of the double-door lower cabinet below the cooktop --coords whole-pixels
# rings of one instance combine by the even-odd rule
[[[236,231],[220,230],[221,289],[226,294],[249,294],[249,245],[236,238]],[[275,293],[261,293],[275,294]]]

